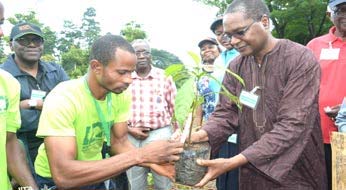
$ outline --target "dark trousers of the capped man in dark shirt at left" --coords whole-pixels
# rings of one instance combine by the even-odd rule
[[[34,176],[34,178],[36,178],[34,162],[37,156],[38,148],[43,143],[43,138],[36,137],[36,130],[28,132],[17,132],[17,138],[23,142],[28,165],[30,167],[32,175]]]

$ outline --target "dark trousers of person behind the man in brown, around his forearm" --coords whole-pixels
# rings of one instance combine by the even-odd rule
[[[238,154],[238,145],[230,142],[222,144],[219,153],[215,158],[230,158]],[[218,190],[238,190],[238,169],[234,169],[220,175],[216,179],[216,187]]]

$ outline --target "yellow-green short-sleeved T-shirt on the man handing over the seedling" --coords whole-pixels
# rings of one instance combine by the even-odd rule
[[[107,100],[98,101],[107,122],[127,122],[131,92],[111,94],[112,115],[107,113]],[[84,78],[66,81],[51,91],[42,110],[38,137],[70,136],[76,138],[76,160],[101,160],[105,142],[102,121]],[[39,148],[35,170],[42,177],[51,177],[44,144]]]

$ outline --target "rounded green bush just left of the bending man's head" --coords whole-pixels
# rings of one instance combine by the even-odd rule
[[[89,52],[87,50],[71,47],[61,57],[62,66],[70,78],[78,78],[87,72],[89,67]]]

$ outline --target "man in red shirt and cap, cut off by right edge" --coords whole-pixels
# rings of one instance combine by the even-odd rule
[[[312,39],[308,44],[321,65],[319,112],[323,133],[328,185],[332,185],[332,150],[330,134],[337,131],[335,117],[346,95],[346,0],[330,0],[327,15],[334,26],[329,33]]]

